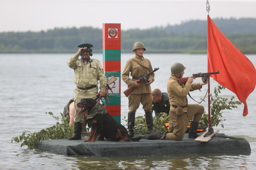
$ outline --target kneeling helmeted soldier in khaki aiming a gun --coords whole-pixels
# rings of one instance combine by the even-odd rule
[[[187,131],[189,120],[193,118],[189,129],[188,138],[197,138],[197,127],[200,118],[204,113],[204,106],[199,104],[188,104],[187,95],[189,91],[198,90],[202,85],[207,84],[207,81],[193,83],[193,77],[180,85],[179,79],[184,75],[184,67],[181,63],[175,63],[171,67],[172,74],[167,83],[167,92],[170,101],[170,118],[173,121],[173,133],[155,132],[148,136],[147,139],[170,139],[181,141]]]

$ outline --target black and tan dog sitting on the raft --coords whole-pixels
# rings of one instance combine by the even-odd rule
[[[101,140],[106,138],[107,141],[139,141],[142,138],[131,138],[124,125],[118,123],[95,99],[82,99],[77,107],[81,108],[79,114],[87,113],[88,126],[91,127],[90,136],[84,142],[96,141],[99,134]]]

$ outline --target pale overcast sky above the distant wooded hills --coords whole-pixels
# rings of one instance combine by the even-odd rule
[[[47,31],[55,27],[102,28],[120,23],[121,29],[148,29],[206,20],[206,0],[0,0],[0,32]],[[256,0],[209,0],[214,18],[256,18]]]

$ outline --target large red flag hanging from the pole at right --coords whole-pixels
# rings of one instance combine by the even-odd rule
[[[246,99],[255,89],[256,70],[252,62],[234,46],[207,17],[208,72],[220,71],[211,77],[234,92],[244,104],[243,116],[248,115]]]

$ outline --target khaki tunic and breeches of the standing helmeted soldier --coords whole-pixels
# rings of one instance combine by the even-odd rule
[[[135,56],[132,59],[127,60],[122,73],[122,80],[129,86],[134,87],[136,79],[145,76],[145,74],[152,71],[152,65],[150,60]],[[129,78],[131,73],[132,78]],[[150,74],[148,79],[154,81],[154,73]],[[129,111],[136,112],[140,103],[143,105],[143,110],[152,111],[152,97],[151,97],[150,85],[147,85],[145,81],[140,82],[140,87],[134,89],[129,95]]]

